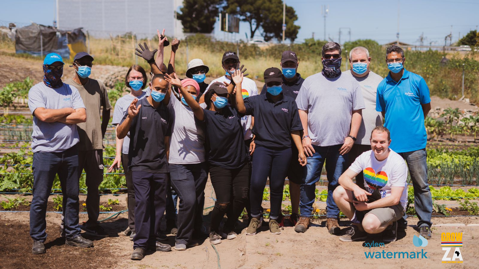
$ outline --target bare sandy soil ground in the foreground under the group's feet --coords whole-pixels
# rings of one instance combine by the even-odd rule
[[[211,183],[206,186],[205,207],[214,204],[210,199]],[[7,197],[13,197],[8,195]],[[50,201],[53,197],[50,197]],[[26,196],[30,200],[31,196]],[[126,208],[126,195],[104,195],[102,202],[108,199],[118,199],[120,205],[117,210]],[[80,197],[80,200],[84,200]],[[456,207],[457,201],[438,201]],[[285,204],[289,202],[284,202]],[[319,202],[319,208],[324,209],[325,203]],[[269,208],[269,202],[263,202],[264,208]],[[205,227],[209,226],[211,209],[204,211]],[[101,214],[100,219],[111,214]],[[406,234],[400,233],[398,241],[385,244],[385,247],[365,247],[365,243],[378,242],[381,238],[372,236],[365,242],[341,242],[336,235],[330,235],[325,228],[325,220],[313,220],[313,224],[304,234],[298,234],[290,225],[286,226],[281,235],[274,235],[268,227],[262,226],[257,235],[245,235],[246,224],[238,222],[237,232],[240,233],[234,240],[223,240],[213,248],[207,239],[200,241],[197,247],[186,251],[172,250],[171,252],[148,252],[141,261],[129,259],[132,241],[123,234],[127,227],[127,214],[122,213],[114,219],[104,221],[102,226],[110,237],[95,239],[94,247],[81,249],[64,245],[64,238],[59,237],[59,213],[47,213],[48,238],[46,241],[47,253],[32,255],[32,239],[29,236],[29,213],[0,213],[0,269],[315,269],[315,268],[479,268],[479,248],[476,246],[479,238],[479,216],[474,217],[433,217],[433,224],[453,224],[453,226],[433,226],[433,238],[428,240],[426,247],[414,247],[413,235],[417,218],[408,219],[409,226]],[[87,215],[80,213],[80,222],[86,221]],[[288,224],[288,222],[286,222]],[[342,232],[349,225],[347,219],[342,219]],[[441,233],[463,232],[462,264],[442,264],[441,259],[445,251],[441,247]],[[168,235],[166,243],[174,246],[174,235]],[[427,252],[426,258],[385,258],[379,261],[365,258],[365,252],[383,250],[421,251]],[[451,256],[452,253],[449,254]]]

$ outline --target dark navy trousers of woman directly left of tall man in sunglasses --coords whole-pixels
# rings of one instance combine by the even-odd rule
[[[291,161],[291,148],[270,149],[256,146],[253,156],[253,169],[251,172],[250,202],[251,216],[262,215],[263,190],[268,177],[270,179],[270,219],[278,219],[283,202],[283,187],[286,173]]]

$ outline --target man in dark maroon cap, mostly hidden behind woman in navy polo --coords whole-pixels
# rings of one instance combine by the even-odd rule
[[[281,55],[280,66],[283,71],[283,94],[296,100],[296,97],[303,85],[304,78],[297,72],[299,61],[296,52],[286,50]],[[266,84],[264,84],[261,94],[266,94]],[[303,134],[301,134],[303,136]],[[289,194],[291,200],[292,213],[289,216],[291,224],[296,225],[299,212],[299,194],[301,183],[303,183],[303,167],[296,161],[298,155],[297,148],[294,143],[291,143],[291,150],[293,151],[293,159],[289,163],[288,168],[288,181],[289,181]]]

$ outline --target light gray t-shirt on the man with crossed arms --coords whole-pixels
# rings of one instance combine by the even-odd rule
[[[85,108],[77,88],[63,83],[52,89],[42,81],[28,91],[28,107],[32,115],[37,108],[62,109]],[[77,124],[46,123],[33,117],[32,149],[33,152],[62,152],[75,146],[80,141]]]

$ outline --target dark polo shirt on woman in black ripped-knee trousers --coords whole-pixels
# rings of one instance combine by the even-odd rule
[[[220,112],[203,110],[205,119],[195,122],[205,131],[205,150],[208,163],[226,169],[242,167],[248,157],[244,144],[241,117],[227,105]]]

